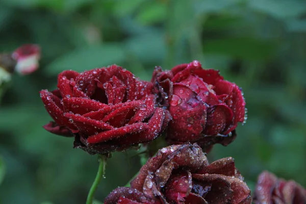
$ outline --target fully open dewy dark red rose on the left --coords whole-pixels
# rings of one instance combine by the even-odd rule
[[[171,116],[156,107],[150,82],[140,81],[112,65],[58,75],[58,89],[40,97],[55,122],[44,129],[74,136],[74,147],[91,154],[107,154],[157,138]]]

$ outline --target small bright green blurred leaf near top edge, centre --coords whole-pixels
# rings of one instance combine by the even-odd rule
[[[152,24],[165,20],[166,15],[166,4],[155,1],[142,8],[136,20],[142,24]]]

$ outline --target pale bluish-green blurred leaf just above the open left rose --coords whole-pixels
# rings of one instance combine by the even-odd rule
[[[46,72],[58,74],[67,69],[84,71],[93,68],[118,64],[124,60],[125,53],[118,44],[102,44],[74,50],[49,64]]]

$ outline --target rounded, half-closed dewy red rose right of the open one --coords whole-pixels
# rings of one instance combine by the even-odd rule
[[[238,122],[245,121],[240,88],[196,60],[170,71],[156,67],[151,82],[158,102],[173,117],[167,132],[170,144],[197,142],[203,150],[215,143],[227,145],[235,138]]]

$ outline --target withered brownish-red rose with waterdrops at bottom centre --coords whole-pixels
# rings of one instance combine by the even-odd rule
[[[122,198],[125,202],[120,201]],[[115,189],[105,199],[105,204],[221,204],[251,203],[251,200],[250,189],[235,168],[233,158],[209,164],[197,144],[184,144],[160,149],[142,166],[131,188]]]

